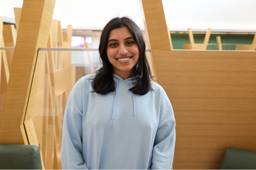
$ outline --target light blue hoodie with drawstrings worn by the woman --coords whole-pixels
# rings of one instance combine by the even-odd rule
[[[136,95],[135,80],[113,74],[116,90],[101,95],[90,92],[92,77],[77,81],[67,100],[62,168],[171,169],[176,122],[165,90],[152,82],[154,90]]]

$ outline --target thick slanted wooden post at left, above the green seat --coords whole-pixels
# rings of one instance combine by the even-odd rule
[[[23,3],[0,124],[0,144],[24,144],[20,126],[24,122],[38,47],[46,47],[48,41],[54,4],[55,1],[50,0],[25,0]],[[38,82],[33,81],[33,84]],[[33,100],[33,93],[31,91],[30,100]]]

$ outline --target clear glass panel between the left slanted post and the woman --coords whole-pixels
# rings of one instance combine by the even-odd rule
[[[98,51],[39,50],[31,89],[34,82],[39,83],[36,98],[29,98],[28,106],[34,102],[34,107],[28,109],[25,122],[32,117],[45,169],[61,167],[62,124],[69,93],[81,77],[99,65]]]

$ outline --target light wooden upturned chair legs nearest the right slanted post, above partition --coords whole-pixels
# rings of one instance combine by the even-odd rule
[[[195,43],[194,42],[194,36],[191,28],[189,30],[189,41],[190,44],[183,44],[184,49],[193,49],[193,50],[206,50],[207,44],[209,42],[210,36],[211,36],[211,28],[208,28],[204,37],[204,43]]]

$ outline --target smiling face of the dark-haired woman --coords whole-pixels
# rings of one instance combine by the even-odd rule
[[[127,27],[110,31],[107,55],[115,74],[123,80],[133,76],[134,66],[139,58],[139,50]]]

